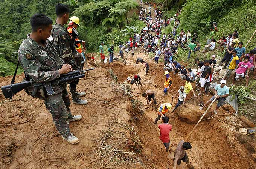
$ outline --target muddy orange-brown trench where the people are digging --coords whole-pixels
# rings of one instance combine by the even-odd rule
[[[143,54],[139,55],[143,57]],[[138,57],[138,56],[137,56]],[[148,60],[148,57],[144,58]],[[170,73],[172,77],[172,87],[169,91],[169,95],[162,97],[163,94],[163,65],[155,65],[154,62],[149,60],[150,70],[149,75],[145,75],[143,70],[143,65],[133,66],[136,61],[135,57],[131,57],[130,61],[123,65],[121,68],[117,66],[106,66],[106,68],[113,69],[113,72],[119,77],[119,83],[123,83],[126,77],[132,77],[135,74],[139,74],[142,78],[143,88],[142,91],[152,89],[157,91],[157,105],[161,103],[167,103],[171,101],[171,96],[174,95],[181,85],[184,86],[185,81],[180,80],[179,77]],[[195,88],[195,84],[193,84]],[[170,151],[166,152],[163,143],[159,140],[160,130],[157,125],[153,124],[154,119],[157,117],[157,112],[153,107],[145,109],[147,107],[146,100],[138,94],[137,86],[132,87],[134,98],[140,101],[143,105],[143,114],[139,117],[134,118],[134,111],[140,107],[135,107],[133,111],[128,111],[130,113],[129,125],[134,127],[134,132],[136,132],[139,137],[140,143],[136,143],[136,140],[129,139],[131,143],[128,147],[129,151],[136,152],[140,159],[140,165],[137,168],[173,168],[173,160],[175,148],[184,137],[192,130],[195,123],[201,117],[203,112],[200,112],[199,107],[202,103],[209,100],[209,97],[203,98],[192,98],[192,92],[187,97],[186,106],[179,107],[174,113],[169,113],[169,123],[172,124],[172,131],[170,132]],[[173,101],[173,105],[177,103],[176,100]],[[128,105],[133,105],[133,101],[128,103]],[[134,105],[133,105],[134,106]],[[213,107],[215,107],[213,105]],[[212,109],[211,109],[212,110]],[[189,112],[187,120],[181,118],[178,114],[183,112]],[[135,113],[136,114],[136,113]],[[210,111],[206,120],[203,120],[194,133],[190,136],[188,141],[192,145],[192,149],[187,151],[190,162],[197,169],[251,169],[255,168],[255,150],[253,146],[245,146],[236,138],[237,133],[233,133],[227,127],[223,127],[223,122],[218,118],[213,117],[214,114]],[[162,123],[162,120],[158,121],[158,124]],[[133,132],[130,132],[133,134]],[[135,143],[135,144],[134,144]],[[247,142],[248,143],[248,142]],[[135,145],[135,146],[134,146]],[[126,148],[127,149],[127,148]],[[249,151],[248,151],[249,150]],[[187,168],[185,163],[181,163],[177,168],[183,169]]]

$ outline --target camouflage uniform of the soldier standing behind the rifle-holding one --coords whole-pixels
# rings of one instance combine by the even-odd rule
[[[72,65],[73,69],[78,70],[79,66],[81,66],[81,57],[78,51],[76,51],[75,44],[67,29],[61,24],[55,23],[52,29],[52,38],[53,44],[61,54],[63,61]],[[79,79],[69,83],[73,100],[78,98],[76,95],[76,85],[78,82]]]

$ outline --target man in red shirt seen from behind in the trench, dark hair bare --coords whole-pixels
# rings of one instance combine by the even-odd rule
[[[170,137],[169,133],[172,131],[172,125],[168,124],[169,118],[167,116],[163,117],[163,123],[158,125],[160,129],[160,136],[159,139],[163,142],[165,146],[166,152],[169,150],[170,146]]]

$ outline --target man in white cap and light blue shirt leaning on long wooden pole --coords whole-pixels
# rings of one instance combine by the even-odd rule
[[[214,98],[217,98],[216,100],[218,100],[218,104],[214,110],[214,113],[215,115],[217,114],[217,109],[219,109],[219,107],[223,106],[225,104],[225,100],[226,100],[226,97],[229,96],[229,87],[227,87],[225,84],[226,84],[226,80],[222,79],[220,81],[221,84],[217,84],[216,87],[215,87],[215,95],[210,98],[209,101],[207,101],[203,107],[200,107],[199,110],[203,110],[204,107],[206,107],[207,105],[209,105],[213,100]],[[216,101],[215,100],[215,101]]]

